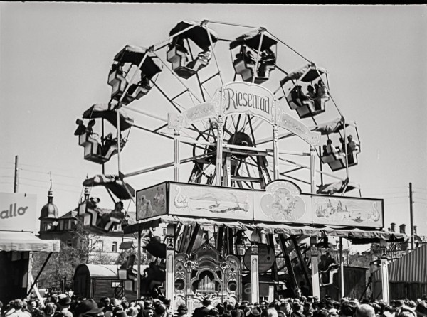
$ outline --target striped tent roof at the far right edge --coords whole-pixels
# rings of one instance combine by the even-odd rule
[[[427,245],[389,264],[389,281],[427,283]]]

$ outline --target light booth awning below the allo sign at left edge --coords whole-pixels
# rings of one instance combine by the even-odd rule
[[[0,231],[0,251],[59,252],[59,240],[41,240],[31,232]]]

